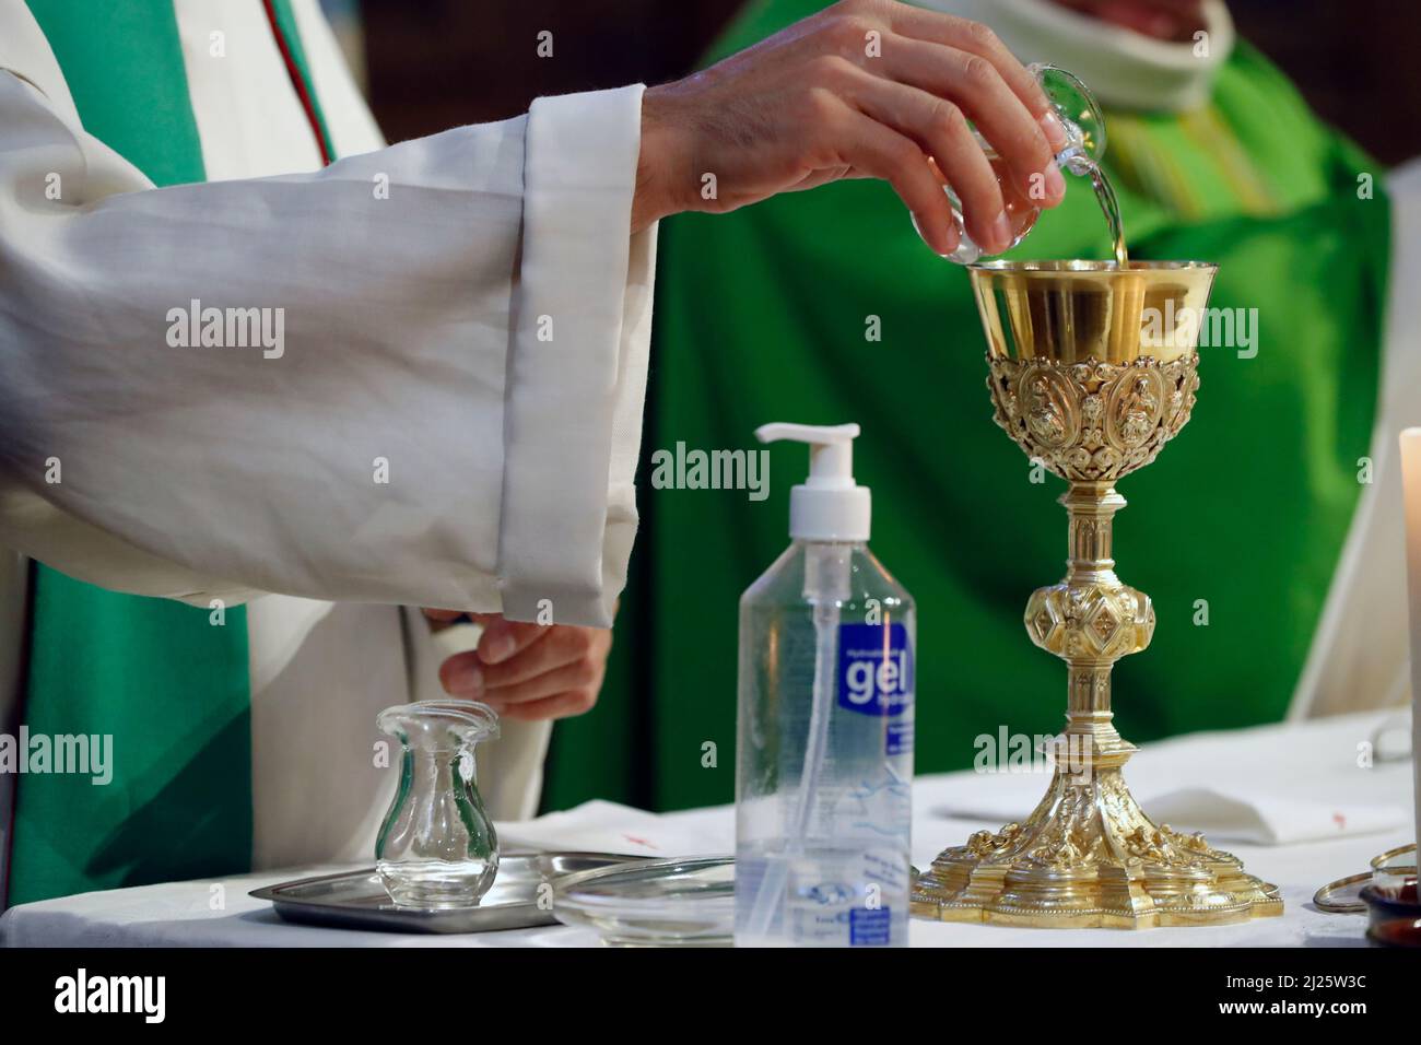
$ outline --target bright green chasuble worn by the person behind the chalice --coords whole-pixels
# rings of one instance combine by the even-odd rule
[[[715,57],[821,6],[756,4]],[[1110,111],[1107,124],[1131,256],[1216,262],[1211,306],[1256,309],[1243,313],[1256,316],[1256,354],[1201,350],[1194,419],[1120,483],[1121,579],[1154,599],[1160,626],[1115,670],[1117,722],[1148,741],[1275,721],[1368,454],[1390,227],[1381,171],[1243,44],[1204,108]],[[1374,198],[1358,196],[1363,172]],[[1088,183],[1067,182],[1066,202],[1010,257],[1108,256]],[[871,317],[881,340],[865,337]],[[872,489],[870,546],[918,603],[918,772],[971,765],[973,739],[1003,725],[1059,729],[1066,671],[1032,645],[1022,616],[1064,572],[1064,486],[1032,482],[992,424],[968,274],[919,242],[892,191],[855,181],[664,222],[655,321],[647,451],[757,448],[767,421],[863,425],[854,472]],[[644,454],[641,584],[624,599],[614,655],[639,661],[631,700],[647,762],[635,775],[614,759],[585,766],[605,796],[662,809],[733,799],[737,599],[786,546],[789,489],[806,468],[801,448],[773,455],[770,496],[752,502],[652,489]],[[571,778],[563,762],[550,769],[564,802],[583,796]]]

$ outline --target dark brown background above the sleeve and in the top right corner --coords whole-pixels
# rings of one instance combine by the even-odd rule
[[[361,0],[371,104],[402,141],[689,71],[743,0]],[[827,6],[828,0],[826,0]],[[1385,164],[1421,154],[1414,0],[1231,0],[1239,33]],[[536,54],[553,33],[553,58]]]

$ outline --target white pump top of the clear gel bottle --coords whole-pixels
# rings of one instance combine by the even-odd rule
[[[854,439],[858,425],[791,425],[774,422],[755,429],[760,442],[793,439],[809,444],[809,478],[790,491],[790,536],[796,540],[868,540],[872,498],[854,483]]]

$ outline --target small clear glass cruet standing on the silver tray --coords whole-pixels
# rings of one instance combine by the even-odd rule
[[[402,745],[399,786],[375,843],[391,900],[411,907],[473,907],[499,872],[499,837],[475,785],[473,749],[499,735],[493,708],[419,701],[375,722]]]

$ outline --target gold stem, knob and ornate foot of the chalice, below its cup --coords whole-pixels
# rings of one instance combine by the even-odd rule
[[[1019,926],[1187,926],[1277,914],[1277,889],[1201,836],[1155,825],[1121,768],[1110,672],[1154,636],[1148,596],[1115,576],[1111,527],[1125,499],[1108,481],[1069,481],[1066,576],[1037,589],[1026,630],[1067,667],[1066,732],[1030,816],[945,850],[914,890],[914,913]]]

